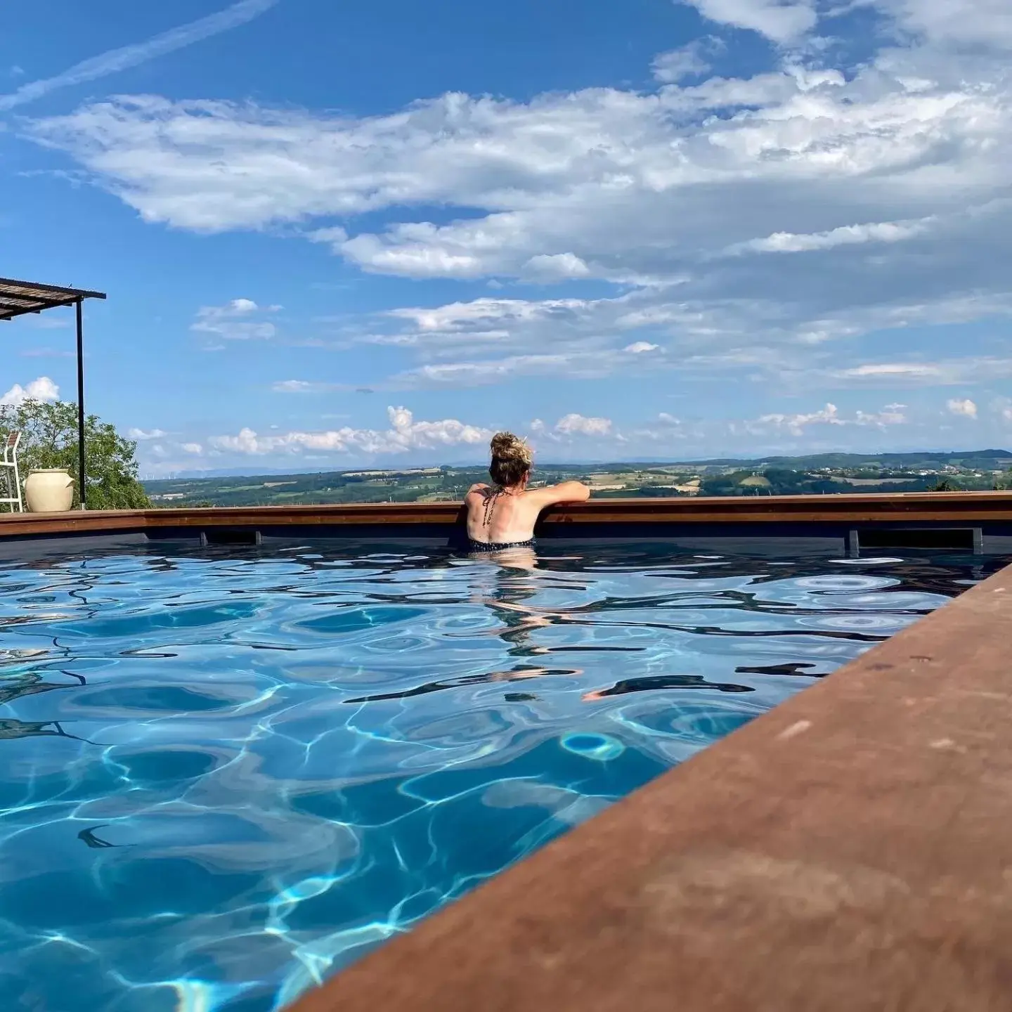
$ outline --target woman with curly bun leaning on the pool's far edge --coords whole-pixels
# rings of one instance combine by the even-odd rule
[[[590,489],[582,482],[528,489],[531,462],[530,447],[512,432],[497,432],[492,437],[489,474],[494,484],[473,485],[465,499],[472,552],[530,547],[534,523],[545,506],[590,498]]]

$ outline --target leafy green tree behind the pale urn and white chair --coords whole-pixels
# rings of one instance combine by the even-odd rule
[[[66,468],[74,479],[74,505],[80,505],[77,453],[77,405],[24,401],[0,410],[0,430],[18,430],[18,463],[22,478],[35,468]],[[124,439],[114,426],[88,415],[84,425],[88,509],[149,509],[144,486],[137,477],[137,443]]]

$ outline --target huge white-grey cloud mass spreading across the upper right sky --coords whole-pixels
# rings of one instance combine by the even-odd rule
[[[884,383],[886,371],[828,368],[820,347],[1012,315],[1006,0],[874,0],[896,22],[873,39],[889,48],[839,67],[824,66],[832,49],[806,56],[814,0],[695,6],[795,48],[752,77],[685,85],[715,45],[695,43],[658,57],[646,91],[450,93],[358,117],[134,96],[26,130],[147,221],[293,225],[350,264],[406,277],[609,286],[608,298],[479,299],[358,326],[348,343],[416,356],[397,377],[408,387],[635,373],[647,359]],[[963,53],[971,37],[980,46]],[[354,234],[362,221],[372,231]],[[263,313],[234,303],[194,327],[273,336]]]

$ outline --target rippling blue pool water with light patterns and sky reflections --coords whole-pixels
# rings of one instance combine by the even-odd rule
[[[276,1008],[998,567],[858,562],[8,568],[0,1008]]]

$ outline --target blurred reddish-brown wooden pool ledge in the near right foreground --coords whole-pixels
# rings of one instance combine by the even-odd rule
[[[1012,568],[293,1012],[1012,1008]]]

